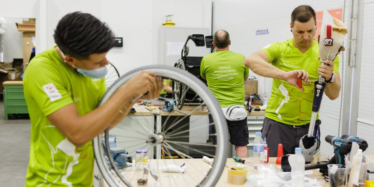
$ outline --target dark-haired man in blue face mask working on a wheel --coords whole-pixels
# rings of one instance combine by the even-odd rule
[[[96,108],[106,91],[112,31],[94,16],[74,12],[58,22],[53,36],[57,45],[35,56],[23,79],[31,119],[25,186],[92,186],[91,140],[120,122],[137,96],[159,96],[162,80],[142,71]]]

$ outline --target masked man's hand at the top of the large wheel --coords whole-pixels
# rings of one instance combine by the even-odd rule
[[[123,86],[134,91],[135,96],[144,94],[141,99],[154,99],[160,96],[163,89],[161,77],[156,77],[153,72],[145,70],[132,77]]]

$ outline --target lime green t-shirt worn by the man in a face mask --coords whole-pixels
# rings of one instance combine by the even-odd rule
[[[46,116],[71,103],[79,116],[94,110],[106,91],[104,78],[77,73],[52,48],[31,60],[23,82],[31,119],[26,186],[92,186],[92,142],[75,147]]]

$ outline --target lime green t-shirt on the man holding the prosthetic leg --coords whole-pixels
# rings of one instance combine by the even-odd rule
[[[305,70],[309,73],[309,80],[318,79],[319,57],[318,42],[301,53],[295,47],[292,39],[282,43],[272,43],[262,49],[269,57],[270,63],[285,71]],[[339,74],[339,58],[334,60],[334,72]],[[288,82],[273,79],[272,95],[266,107],[267,118],[288,125],[304,125],[310,122],[314,96],[314,82],[303,82],[304,92]],[[318,117],[317,117],[318,119]]]

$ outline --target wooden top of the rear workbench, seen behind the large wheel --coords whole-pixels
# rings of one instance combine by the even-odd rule
[[[132,113],[132,114],[135,115],[135,116],[137,116],[137,115],[144,115],[144,116],[147,116],[147,115],[184,116],[184,115],[186,115],[186,114],[182,114],[182,113],[177,112],[177,111],[174,111],[172,113],[163,112],[159,109],[158,106],[153,106],[153,108],[154,108],[154,110],[152,111],[153,114],[151,114],[151,111],[145,109],[144,105],[138,105],[138,106],[135,106],[134,108],[137,112]],[[178,110],[177,108],[175,108],[175,109]],[[185,105],[185,106],[183,106],[182,110],[180,110],[180,111],[182,111],[184,113],[187,113],[187,114],[191,114],[192,116],[208,115],[208,109],[206,109],[203,106],[199,107],[198,105]],[[252,115],[252,116],[263,116],[263,115],[265,115],[265,111],[253,111],[252,110],[252,112],[247,111],[247,113],[248,113],[248,115]]]

